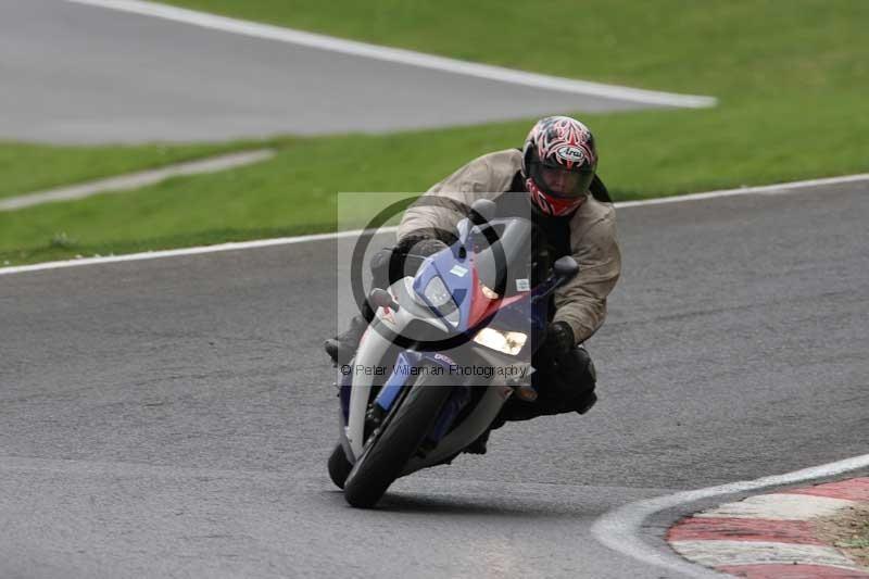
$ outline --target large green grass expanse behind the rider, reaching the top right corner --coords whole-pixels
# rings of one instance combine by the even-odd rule
[[[174,3],[718,97],[709,110],[581,115],[620,200],[869,171],[869,2],[861,0]],[[337,191],[424,190],[473,156],[520,146],[531,122],[288,138],[260,165],[0,213],[0,265],[328,230]]]

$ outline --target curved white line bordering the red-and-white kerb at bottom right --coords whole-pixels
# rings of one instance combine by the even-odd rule
[[[714,496],[758,491],[770,487],[794,484],[813,479],[833,477],[869,468],[869,454],[846,458],[835,463],[804,468],[785,475],[764,477],[756,480],[730,482],[707,489],[683,491],[630,503],[600,517],[591,527],[594,538],[607,547],[647,565],[682,572],[689,577],[721,577],[709,569],[687,563],[667,551],[646,544],[639,536],[643,521],[652,515],[696,501]]]

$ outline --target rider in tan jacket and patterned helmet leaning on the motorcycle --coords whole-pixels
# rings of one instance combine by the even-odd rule
[[[552,263],[572,255],[580,266],[579,274],[558,288],[551,301],[546,338],[532,361],[537,401],[512,398],[494,428],[504,420],[563,412],[584,414],[597,400],[594,366],[582,342],[604,323],[606,298],[618,280],[621,260],[615,210],[596,167],[594,138],[585,125],[567,116],[541,118],[521,150],[475,159],[424,196],[448,203],[432,203],[428,197],[428,203],[410,206],[399,225],[392,254],[431,254],[455,240],[451,231],[461,216],[449,209],[450,202],[469,207],[486,198],[495,201],[501,212],[509,212],[509,199],[516,196],[505,193],[524,192],[522,209],[527,211],[530,204],[536,229],[543,234],[533,250],[538,257],[545,255]],[[376,280],[394,277],[394,272],[385,272],[389,255],[381,253],[373,260]],[[352,357],[373,317],[366,303],[363,316],[356,316],[348,331],[325,342],[333,361]],[[488,432],[468,451],[484,453],[487,439]]]

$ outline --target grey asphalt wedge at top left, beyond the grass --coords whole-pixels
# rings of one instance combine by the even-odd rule
[[[61,0],[0,0],[5,139],[225,140],[640,106]]]

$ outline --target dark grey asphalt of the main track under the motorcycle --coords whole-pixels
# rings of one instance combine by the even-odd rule
[[[868,217],[867,184],[620,211],[599,405],[368,512],[325,467],[335,242],[3,276],[0,576],[678,577],[590,526],[866,454]]]

